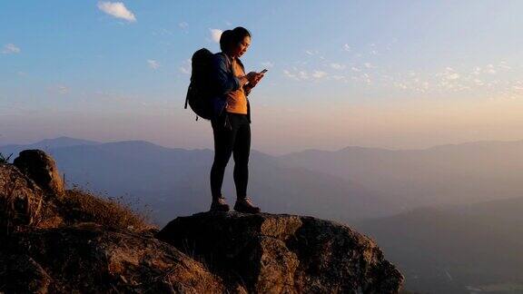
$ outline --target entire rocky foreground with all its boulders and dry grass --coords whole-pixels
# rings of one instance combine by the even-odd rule
[[[19,158],[0,164],[0,293],[396,293],[403,281],[339,223],[205,212],[158,231],[120,203],[61,190],[44,152]]]

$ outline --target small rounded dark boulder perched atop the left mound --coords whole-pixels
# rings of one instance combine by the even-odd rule
[[[20,152],[13,164],[33,179],[46,193],[58,198],[64,196],[64,181],[60,177],[53,157],[41,150]]]

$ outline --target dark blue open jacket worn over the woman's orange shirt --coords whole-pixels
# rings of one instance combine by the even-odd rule
[[[239,58],[237,61],[242,66],[243,72],[245,72],[242,61]],[[225,104],[227,103],[226,94],[240,89],[240,79],[232,73],[232,59],[227,54],[220,52],[212,57],[212,81],[215,93],[218,93],[213,99],[214,117],[218,117],[225,110]],[[247,118],[251,122],[251,104],[247,98],[251,88],[243,85],[243,91],[247,99]]]

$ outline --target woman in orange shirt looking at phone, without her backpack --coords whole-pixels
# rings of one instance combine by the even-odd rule
[[[227,162],[234,158],[236,203],[234,211],[258,213],[247,197],[249,153],[251,150],[251,106],[247,95],[263,77],[263,73],[247,73],[240,58],[251,45],[251,33],[239,26],[220,37],[222,52],[212,58],[212,83],[218,96],[213,100],[211,120],[214,136],[214,162],[211,169],[211,211],[229,211],[222,195],[222,182]]]

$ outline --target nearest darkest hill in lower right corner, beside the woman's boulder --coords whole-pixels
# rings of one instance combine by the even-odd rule
[[[502,293],[519,293],[522,211],[523,198],[515,198],[417,209],[356,227],[375,238],[398,264],[406,276],[406,289],[469,293],[467,287],[485,291],[512,287]]]

